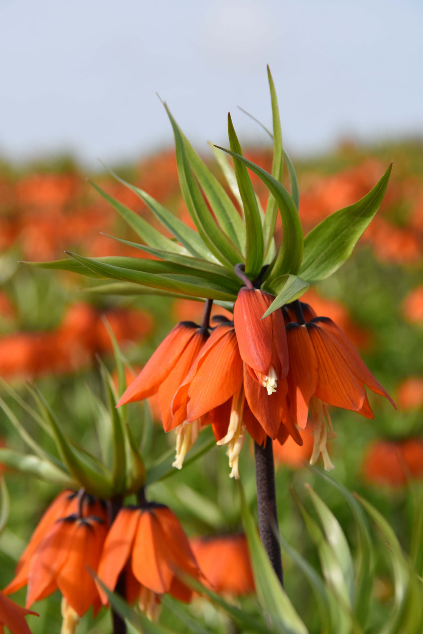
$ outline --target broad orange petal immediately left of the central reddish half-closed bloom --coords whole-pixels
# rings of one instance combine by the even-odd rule
[[[228,330],[204,357],[189,386],[187,421],[192,422],[225,403],[241,389],[243,362],[235,330]]]

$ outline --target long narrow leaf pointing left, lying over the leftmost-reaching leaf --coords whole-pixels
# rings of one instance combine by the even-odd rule
[[[196,295],[210,299],[227,299],[235,301],[236,294],[231,290],[222,290],[215,281],[196,280],[196,283],[184,280],[175,280],[170,276],[166,277],[156,273],[145,273],[144,271],[134,271],[133,269],[124,269],[119,266],[112,266],[106,262],[100,262],[97,259],[77,256],[77,254],[68,252],[77,262],[86,266],[90,271],[109,278],[117,280],[131,281],[136,284],[159,288],[160,290],[170,290],[185,295]],[[216,278],[216,276],[214,276]],[[224,278],[222,278],[224,280]],[[198,282],[198,283],[197,283]],[[225,281],[226,284],[226,281]]]

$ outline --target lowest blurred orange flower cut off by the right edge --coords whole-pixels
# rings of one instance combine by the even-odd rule
[[[373,484],[402,486],[409,477],[423,477],[423,441],[377,440],[370,445],[363,462],[363,475]]]

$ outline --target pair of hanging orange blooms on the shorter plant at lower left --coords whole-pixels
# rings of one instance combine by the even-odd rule
[[[126,600],[131,604],[138,600],[149,617],[156,616],[164,593],[189,602],[192,590],[179,576],[199,578],[200,571],[171,510],[145,502],[141,507],[121,508],[113,522],[109,515],[106,503],[83,490],[60,493],[32,534],[4,592],[17,592],[26,585],[28,609],[59,589],[69,631],[91,606],[96,614],[107,604],[93,572],[111,590],[123,574]]]

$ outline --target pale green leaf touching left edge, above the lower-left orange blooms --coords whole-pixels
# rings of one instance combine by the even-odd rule
[[[0,462],[20,473],[33,475],[44,482],[51,482],[63,488],[77,489],[78,484],[65,471],[58,469],[48,460],[34,455],[19,453],[11,449],[0,448]]]

